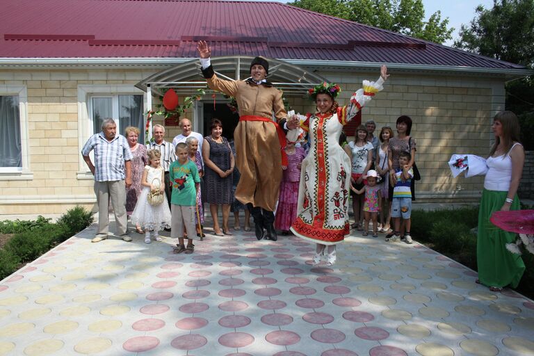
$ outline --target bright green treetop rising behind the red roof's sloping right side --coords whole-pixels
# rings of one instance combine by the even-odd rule
[[[290,5],[436,43],[451,39],[454,31],[440,11],[424,21],[422,0],[296,0]]]

